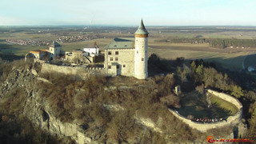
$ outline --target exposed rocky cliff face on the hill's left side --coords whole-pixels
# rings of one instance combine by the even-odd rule
[[[0,98],[4,98],[6,93],[14,88],[20,87],[26,90],[26,102],[22,106],[22,114],[42,130],[49,131],[59,138],[71,138],[77,143],[90,143],[91,138],[87,138],[84,131],[77,123],[61,122],[50,113],[50,107],[46,101],[35,92],[38,72],[31,68],[14,68],[6,81],[0,86]],[[42,81],[44,82],[44,81]],[[94,142],[97,143],[97,142]]]

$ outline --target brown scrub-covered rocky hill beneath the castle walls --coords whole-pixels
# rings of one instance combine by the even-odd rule
[[[156,65],[155,61],[160,65]],[[200,76],[199,69],[204,73],[213,70],[221,76],[222,73],[214,68],[198,68],[200,64],[196,63],[195,72],[193,66],[189,72],[188,67],[179,62],[168,64],[161,58],[150,58],[149,66],[154,67],[154,73],[166,71],[166,75],[138,80],[129,77],[81,79],[76,75],[42,74],[38,63],[1,61],[1,124],[11,125],[9,129],[2,130],[2,133],[9,134],[2,142],[13,142],[14,134],[18,141],[30,136],[29,143],[204,142],[206,136],[212,134],[232,138],[231,127],[202,133],[191,129],[169,112],[169,107],[180,106],[180,98],[173,91],[174,86],[181,85],[188,88],[185,91],[190,91],[189,88],[193,90],[201,82],[216,89],[225,88],[237,97],[246,98],[246,101],[242,100],[243,104],[250,101],[250,111],[244,105],[247,107],[244,117],[250,124],[248,134],[253,134],[253,91],[241,94],[238,90],[232,93],[236,85],[230,78],[224,79],[220,86],[212,85]],[[206,63],[202,65],[206,66]],[[177,74],[167,72],[176,71],[176,66],[182,66]],[[184,81],[185,76],[188,81]],[[248,114],[252,115],[247,117]],[[24,122],[30,123],[26,129],[22,129]]]

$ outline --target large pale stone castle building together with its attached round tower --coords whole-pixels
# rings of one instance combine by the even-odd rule
[[[134,38],[114,38],[105,47],[105,69],[107,75],[124,75],[146,79],[148,32],[141,22]]]

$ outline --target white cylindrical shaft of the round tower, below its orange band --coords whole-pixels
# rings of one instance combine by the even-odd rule
[[[146,79],[148,77],[147,43],[148,43],[148,38],[135,37],[134,77],[138,79]]]

